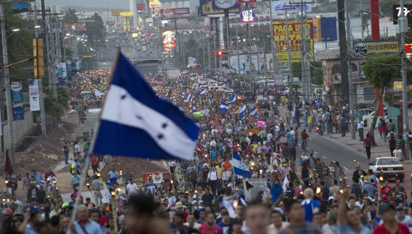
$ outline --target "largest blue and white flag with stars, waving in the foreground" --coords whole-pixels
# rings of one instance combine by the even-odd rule
[[[94,154],[192,160],[200,128],[159,99],[119,52],[93,148]]]

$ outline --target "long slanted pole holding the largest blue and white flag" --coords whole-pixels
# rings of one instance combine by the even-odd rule
[[[120,55],[120,49],[117,50],[117,53],[116,53],[116,58],[114,60],[113,67],[112,67],[112,77],[110,77],[110,81],[112,81],[112,79],[113,79],[114,69],[115,69],[116,64],[119,60],[119,55]],[[110,89],[110,87],[108,88],[108,91],[109,91],[109,89]],[[103,102],[103,105],[102,105],[102,111],[104,109],[104,104],[105,104],[105,101]],[[102,111],[100,111],[100,115],[99,115],[97,123],[94,124],[94,126],[95,126],[94,128],[96,129],[96,132],[94,133],[92,142],[90,143],[89,154],[88,155],[92,155],[92,153],[94,151],[95,141],[96,141],[97,135],[99,134],[100,118],[102,116]],[[77,194],[79,194],[80,196],[76,197],[75,207],[73,208],[73,213],[72,213],[72,216],[70,217],[69,227],[71,227],[75,223],[75,219],[76,219],[76,215],[77,215],[77,208],[79,207],[80,197],[82,196],[82,187],[85,186],[86,174],[87,174],[87,171],[89,170],[89,164],[90,164],[90,156],[87,156],[86,160],[85,160],[85,164],[83,165],[83,174],[82,174],[82,177],[80,179],[79,191],[77,191]],[[70,233],[73,233],[73,231],[70,228],[69,228],[69,230],[70,230]]]

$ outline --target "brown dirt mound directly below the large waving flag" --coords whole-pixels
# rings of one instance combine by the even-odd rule
[[[167,170],[154,162],[138,157],[114,157],[112,162],[105,166],[100,172],[104,181],[109,179],[107,173],[113,168],[115,168],[117,172],[130,172],[134,179],[143,177],[143,173],[145,172],[165,172]]]

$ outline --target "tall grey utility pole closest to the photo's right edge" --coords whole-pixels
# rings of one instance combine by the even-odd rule
[[[405,33],[408,32],[408,19],[405,18],[403,14],[404,0],[401,0],[401,17],[399,18],[399,32],[401,33],[401,65],[402,65],[402,121],[403,121],[403,139],[405,139],[405,159],[408,160],[411,155],[409,155],[408,145],[408,79],[406,77],[406,54],[405,54]]]

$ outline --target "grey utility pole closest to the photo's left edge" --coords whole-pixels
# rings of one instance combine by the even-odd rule
[[[3,63],[4,67],[9,65],[9,54],[7,52],[7,36],[6,36],[6,16],[4,16],[4,2],[0,2],[0,20],[1,20],[1,42],[3,48]],[[14,128],[13,128],[13,107],[11,105],[11,89],[10,89],[10,73],[9,68],[4,69],[4,88],[6,89],[6,108],[7,108],[7,128],[9,130],[9,155],[11,164],[16,163],[14,154]],[[0,125],[1,126],[1,125]]]

